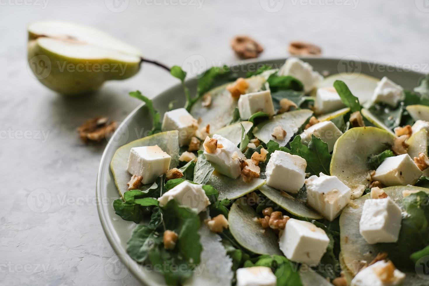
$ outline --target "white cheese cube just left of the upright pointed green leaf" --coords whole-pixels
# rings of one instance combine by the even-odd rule
[[[314,99],[314,111],[325,114],[345,107],[334,87],[320,87]]]

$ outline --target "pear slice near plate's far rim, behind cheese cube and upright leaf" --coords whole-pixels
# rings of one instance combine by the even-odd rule
[[[359,98],[361,104],[369,102],[378,81],[380,81],[378,78],[363,73],[348,74],[346,72],[342,72],[326,77],[317,85],[317,88],[332,87],[334,86],[334,82],[337,80],[344,81],[351,93]]]

